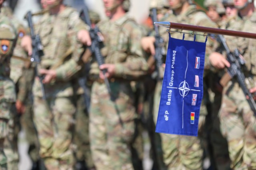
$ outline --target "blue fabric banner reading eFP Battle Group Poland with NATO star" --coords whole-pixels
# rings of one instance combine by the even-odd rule
[[[197,136],[206,43],[169,38],[156,132]]]

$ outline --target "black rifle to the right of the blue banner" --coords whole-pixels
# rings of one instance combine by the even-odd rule
[[[222,44],[223,48],[226,50],[227,53],[227,59],[230,63],[230,67],[228,68],[228,74],[231,78],[236,77],[239,86],[242,88],[244,95],[248,96],[248,99],[246,98],[248,104],[250,105],[250,108],[254,112],[254,115],[256,116],[256,104],[253,99],[252,94],[248,90],[246,86],[246,78],[244,76],[244,73],[242,72],[242,65],[244,64],[244,61],[240,58],[240,54],[238,49],[234,50],[234,53],[230,51],[228,48],[228,45],[226,44],[226,40],[223,37],[223,35],[218,34],[218,41]]]

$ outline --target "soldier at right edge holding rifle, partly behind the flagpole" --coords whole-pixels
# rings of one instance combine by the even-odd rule
[[[251,0],[234,0],[234,5],[239,10],[239,15],[230,20],[226,29],[256,33],[256,12]],[[242,17],[242,18],[240,18]],[[248,82],[250,92],[255,92],[256,71],[255,71],[255,39],[234,38],[225,36],[230,51],[238,48],[245,60],[243,67],[244,74]],[[225,59],[225,55],[213,53],[210,56],[211,64],[218,69],[230,63]],[[222,80],[226,79],[223,76]],[[234,78],[224,86],[222,105],[219,112],[220,128],[224,137],[228,141],[231,168],[234,170],[255,170],[256,169],[256,120],[253,111]],[[222,81],[222,82],[225,82]],[[225,85],[225,84],[224,84]]]

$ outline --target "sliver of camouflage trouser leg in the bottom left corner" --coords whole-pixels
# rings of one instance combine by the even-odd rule
[[[0,118],[0,170],[7,170],[7,157],[4,153],[4,140],[8,136],[8,119]]]

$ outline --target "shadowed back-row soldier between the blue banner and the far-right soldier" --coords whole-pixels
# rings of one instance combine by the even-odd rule
[[[226,22],[225,8],[221,0],[206,0],[204,6],[207,8],[208,17],[214,21],[219,28]],[[208,106],[208,115],[206,116],[206,141],[207,153],[211,158],[211,163],[217,170],[230,169],[230,159],[228,156],[228,143],[220,132],[220,120],[218,112],[222,99],[222,86],[220,85],[220,74],[209,71],[205,78],[206,86],[209,88],[211,104]]]

